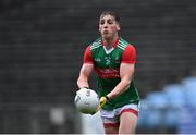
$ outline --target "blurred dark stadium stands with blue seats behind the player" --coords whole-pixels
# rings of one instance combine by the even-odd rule
[[[196,133],[195,0],[1,0],[0,133],[89,132],[73,100],[106,9],[137,49],[137,133]]]

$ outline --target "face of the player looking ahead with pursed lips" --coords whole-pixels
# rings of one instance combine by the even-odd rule
[[[99,32],[105,39],[113,38],[120,30],[119,23],[111,15],[103,15],[99,20]]]

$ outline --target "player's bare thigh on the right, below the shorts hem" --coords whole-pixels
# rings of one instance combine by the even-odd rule
[[[136,125],[137,115],[132,110],[124,111],[120,115],[119,134],[135,134]]]

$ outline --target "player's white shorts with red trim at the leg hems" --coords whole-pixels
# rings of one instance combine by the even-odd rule
[[[105,127],[119,126],[119,118],[123,112],[131,112],[138,116],[139,105],[130,103],[114,110],[100,110]]]

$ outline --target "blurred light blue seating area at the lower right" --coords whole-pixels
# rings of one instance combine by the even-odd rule
[[[138,126],[144,128],[174,128],[179,133],[195,133],[196,77],[168,84],[149,93],[142,100]],[[187,130],[191,130],[187,132]]]

